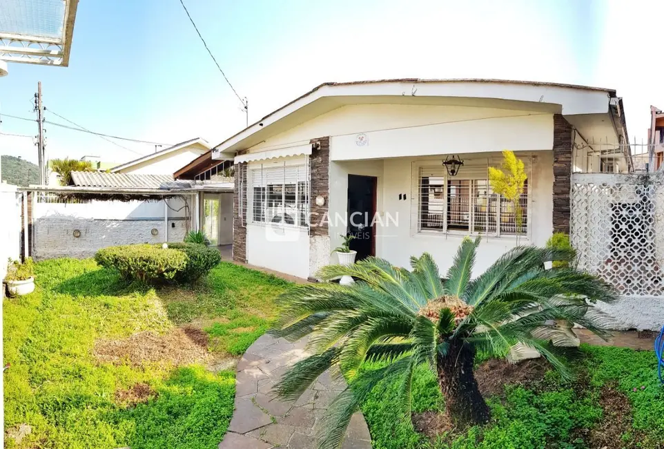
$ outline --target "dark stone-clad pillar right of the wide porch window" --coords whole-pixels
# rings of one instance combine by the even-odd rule
[[[554,232],[569,234],[572,189],[572,126],[554,114]]]

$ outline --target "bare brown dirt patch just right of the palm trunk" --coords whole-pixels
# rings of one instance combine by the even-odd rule
[[[477,367],[475,379],[482,396],[502,396],[505,394],[505,385],[531,385],[541,381],[550,369],[551,365],[544,359],[528,359],[520,363],[491,359]]]

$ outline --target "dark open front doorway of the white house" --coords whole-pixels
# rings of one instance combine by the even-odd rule
[[[375,256],[375,190],[375,177],[348,175],[348,233],[355,236],[350,245],[358,251],[355,260]]]

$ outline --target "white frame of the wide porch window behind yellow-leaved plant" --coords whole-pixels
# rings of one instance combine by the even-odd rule
[[[526,240],[529,240],[531,238],[531,231],[532,231],[532,219],[531,219],[531,213],[532,213],[532,207],[533,207],[533,200],[532,200],[532,192],[534,191],[535,188],[535,182],[531,179],[531,167],[534,165],[534,158],[528,157],[528,158],[523,158],[524,162],[527,162],[526,166],[526,171],[528,173],[528,187],[526,191],[526,201],[525,201],[525,218],[526,218],[526,223],[525,223],[525,232],[523,233],[507,233],[505,231],[501,231],[501,222],[500,222],[500,213],[501,213],[501,204],[504,204],[505,197],[500,195],[499,197],[499,202],[497,204],[496,208],[496,223],[495,231],[476,231],[475,230],[475,217],[476,217],[476,212],[475,212],[475,195],[473,194],[474,188],[475,188],[475,182],[476,181],[486,181],[487,184],[489,184],[489,173],[488,173],[488,167],[489,164],[491,166],[499,166],[500,162],[496,162],[494,160],[487,160],[485,164],[478,164],[478,162],[481,161],[472,161],[475,162],[474,165],[469,164],[469,166],[464,166],[462,167],[460,174],[457,176],[450,176],[447,174],[447,171],[445,170],[445,167],[441,167],[440,165],[436,165],[435,162],[431,161],[422,161],[422,162],[414,162],[413,163],[413,191],[411,193],[411,209],[413,209],[413,212],[411,213],[411,228],[413,231],[415,231],[416,234],[420,235],[426,235],[426,236],[490,236],[494,238],[507,238],[507,239],[516,239],[516,238],[525,238]],[[438,162],[440,164],[440,162]],[[463,173],[464,169],[466,169],[466,174]],[[436,173],[435,176],[436,178],[442,178],[442,204],[443,204],[443,213],[442,213],[442,228],[441,229],[429,229],[427,227],[422,227],[422,173]],[[483,171],[485,174],[479,174],[479,171]],[[470,172],[470,174],[468,174]],[[438,175],[440,173],[440,175]],[[448,196],[448,182],[449,180],[469,180],[470,185],[469,185],[469,202],[468,202],[468,209],[469,209],[469,220],[468,220],[468,229],[467,230],[460,230],[460,229],[449,229],[448,228],[448,207],[449,207],[449,196]],[[493,193],[492,195],[496,195]],[[414,225],[414,226],[413,226]],[[503,225],[504,227],[504,225]]]

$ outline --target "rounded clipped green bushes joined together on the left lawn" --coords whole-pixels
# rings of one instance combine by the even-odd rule
[[[221,262],[219,251],[195,243],[122,245],[97,251],[102,267],[115,268],[126,279],[146,283],[191,283]]]

